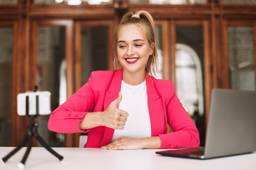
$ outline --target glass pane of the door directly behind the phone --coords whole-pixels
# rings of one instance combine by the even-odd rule
[[[51,92],[52,111],[66,100],[65,26],[38,28],[37,85],[39,91]],[[64,134],[47,128],[49,115],[38,117],[38,133],[49,146],[64,146]],[[37,143],[37,146],[40,146]]]

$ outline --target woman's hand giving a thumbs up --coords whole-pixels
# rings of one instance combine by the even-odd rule
[[[122,130],[124,129],[128,113],[117,108],[122,100],[122,94],[119,92],[118,97],[110,103],[108,108],[103,112],[103,124],[108,128]]]

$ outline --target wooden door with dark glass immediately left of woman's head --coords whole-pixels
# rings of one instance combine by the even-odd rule
[[[75,89],[88,82],[92,71],[114,69],[111,20],[77,21],[75,29]]]

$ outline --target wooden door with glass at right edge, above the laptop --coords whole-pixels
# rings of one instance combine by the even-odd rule
[[[256,22],[223,22],[223,77],[226,88],[256,90]]]

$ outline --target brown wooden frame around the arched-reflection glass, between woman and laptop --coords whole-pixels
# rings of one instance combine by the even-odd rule
[[[169,20],[168,24],[170,31],[168,34],[168,39],[170,46],[168,48],[168,57],[169,62],[167,64],[168,68],[164,68],[164,72],[170,72],[168,79],[175,82],[175,44],[176,44],[176,27],[177,26],[202,26],[203,29],[203,45],[204,45],[204,116],[205,116],[205,132],[207,129],[208,118],[209,118],[209,108],[210,108],[210,99],[211,99],[211,90],[213,88],[213,62],[216,60],[212,57],[212,47],[211,47],[211,38],[210,38],[210,20]]]

